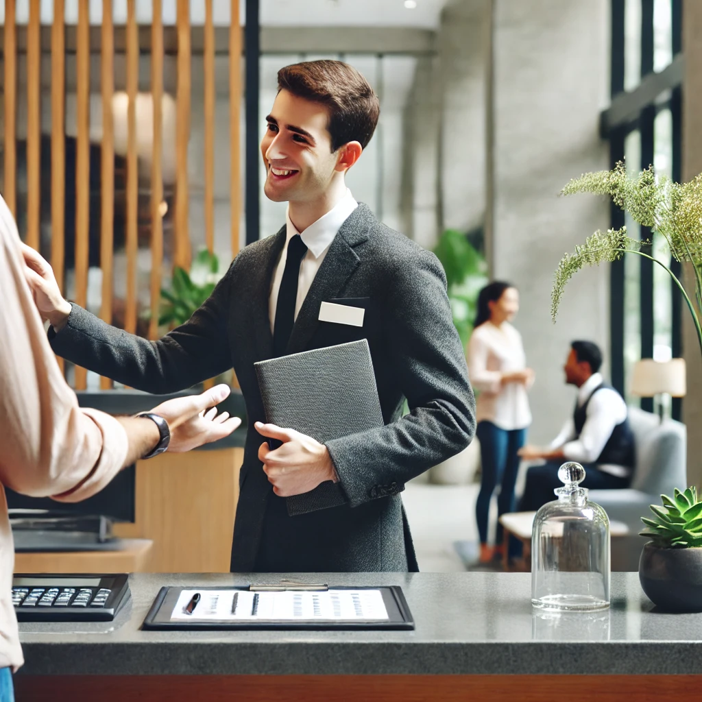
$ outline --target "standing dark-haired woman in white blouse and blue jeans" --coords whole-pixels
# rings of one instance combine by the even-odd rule
[[[518,311],[519,293],[514,286],[498,281],[485,286],[478,296],[475,327],[468,343],[468,373],[478,391],[476,419],[482,482],[475,515],[482,563],[502,553],[499,522],[496,547],[487,543],[490,501],[500,484],[498,515],[513,510],[519,469],[517,451],[526,443],[531,424],[527,390],[534,382],[534,371],[527,368],[522,336],[510,324]]]

